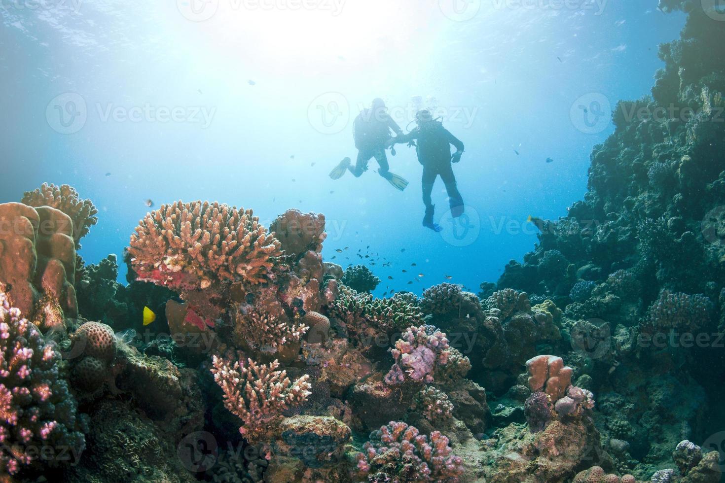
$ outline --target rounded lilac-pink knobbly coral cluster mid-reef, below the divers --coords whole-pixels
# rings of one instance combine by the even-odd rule
[[[446,335],[436,327],[408,327],[391,350],[395,364],[386,374],[385,382],[395,385],[412,379],[430,384],[436,368],[448,364],[449,348]]]

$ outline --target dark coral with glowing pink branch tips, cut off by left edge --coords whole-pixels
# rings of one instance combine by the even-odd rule
[[[60,354],[0,292],[0,474],[73,463],[85,448]],[[70,451],[72,450],[72,451]]]

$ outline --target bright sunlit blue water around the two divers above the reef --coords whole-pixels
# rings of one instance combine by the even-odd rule
[[[123,253],[147,199],[220,201],[266,223],[317,211],[326,260],[376,263],[378,295],[444,281],[476,291],[521,259],[536,242],[526,217],[555,219],[582,198],[592,147],[613,130],[606,103],[649,92],[658,43],[684,24],[655,1],[474,1],[471,19],[449,0],[192,1],[0,2],[0,201],[75,186],[99,208],[86,263]],[[355,159],[352,119],[378,96],[402,127],[418,105],[437,108],[465,143],[454,170],[468,217],[445,216],[439,180],[441,234],[421,227],[412,148],[389,156],[404,193],[374,160],[360,179],[328,177]]]

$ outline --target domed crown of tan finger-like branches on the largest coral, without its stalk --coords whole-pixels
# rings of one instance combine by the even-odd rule
[[[252,210],[178,201],[146,214],[128,251],[139,275],[183,271],[199,277],[199,287],[206,288],[212,280],[267,281],[280,247]]]

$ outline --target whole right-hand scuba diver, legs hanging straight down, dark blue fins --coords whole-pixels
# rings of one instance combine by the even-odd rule
[[[435,206],[431,201],[433,184],[436,177],[440,176],[446,185],[451,214],[454,218],[460,217],[464,211],[463,198],[458,191],[451,163],[460,161],[464,146],[458,138],[443,127],[442,122],[433,119],[431,112],[427,110],[418,111],[415,114],[415,122],[418,127],[415,127],[406,135],[398,135],[390,140],[388,145],[408,143],[408,146],[415,146],[415,151],[418,153],[418,162],[423,164],[423,203],[426,205],[423,226],[439,232],[443,228],[433,222],[435,211]],[[452,155],[451,144],[456,148],[456,152]]]

